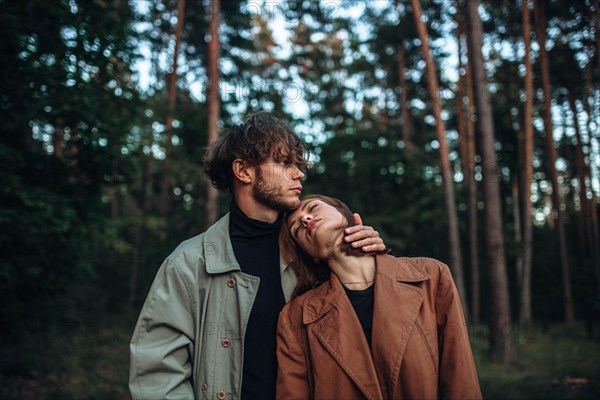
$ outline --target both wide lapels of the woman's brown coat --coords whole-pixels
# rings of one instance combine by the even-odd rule
[[[335,274],[306,298],[303,322],[368,399],[395,398],[400,365],[429,279],[409,259],[376,256],[371,348]],[[413,284],[411,284],[413,283]]]

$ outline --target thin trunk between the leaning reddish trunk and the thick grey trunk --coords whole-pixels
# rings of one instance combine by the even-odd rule
[[[457,10],[460,9],[460,1],[457,0]],[[462,63],[464,37],[464,20],[463,14],[456,13],[457,22],[457,42],[458,42],[458,59],[459,70],[465,68]],[[465,90],[466,88],[466,90]],[[465,93],[466,92],[466,93]],[[465,107],[465,95],[467,104]],[[471,284],[471,321],[479,322],[479,257],[477,254],[478,237],[477,237],[477,182],[475,181],[475,119],[473,110],[473,85],[471,77],[471,68],[467,63],[465,74],[459,75],[459,83],[457,89],[458,111],[457,123],[459,127],[459,137],[461,146],[462,170],[467,187],[467,212],[469,220],[469,262],[470,262],[470,284]]]

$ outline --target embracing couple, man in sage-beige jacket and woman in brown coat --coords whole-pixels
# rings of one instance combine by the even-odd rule
[[[306,167],[266,115],[209,147],[230,212],[159,269],[131,340],[133,399],[481,397],[447,267],[384,254],[338,200],[300,201]]]

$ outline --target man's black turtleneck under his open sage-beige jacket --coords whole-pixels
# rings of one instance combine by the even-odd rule
[[[285,305],[279,270],[280,216],[274,224],[247,217],[231,202],[229,235],[242,272],[260,278],[244,335],[242,400],[275,399],[276,330]]]

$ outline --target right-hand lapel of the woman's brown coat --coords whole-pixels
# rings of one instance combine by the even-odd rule
[[[384,396],[394,398],[406,344],[423,303],[422,289],[414,283],[430,276],[392,256],[377,256],[376,261],[373,361]]]

